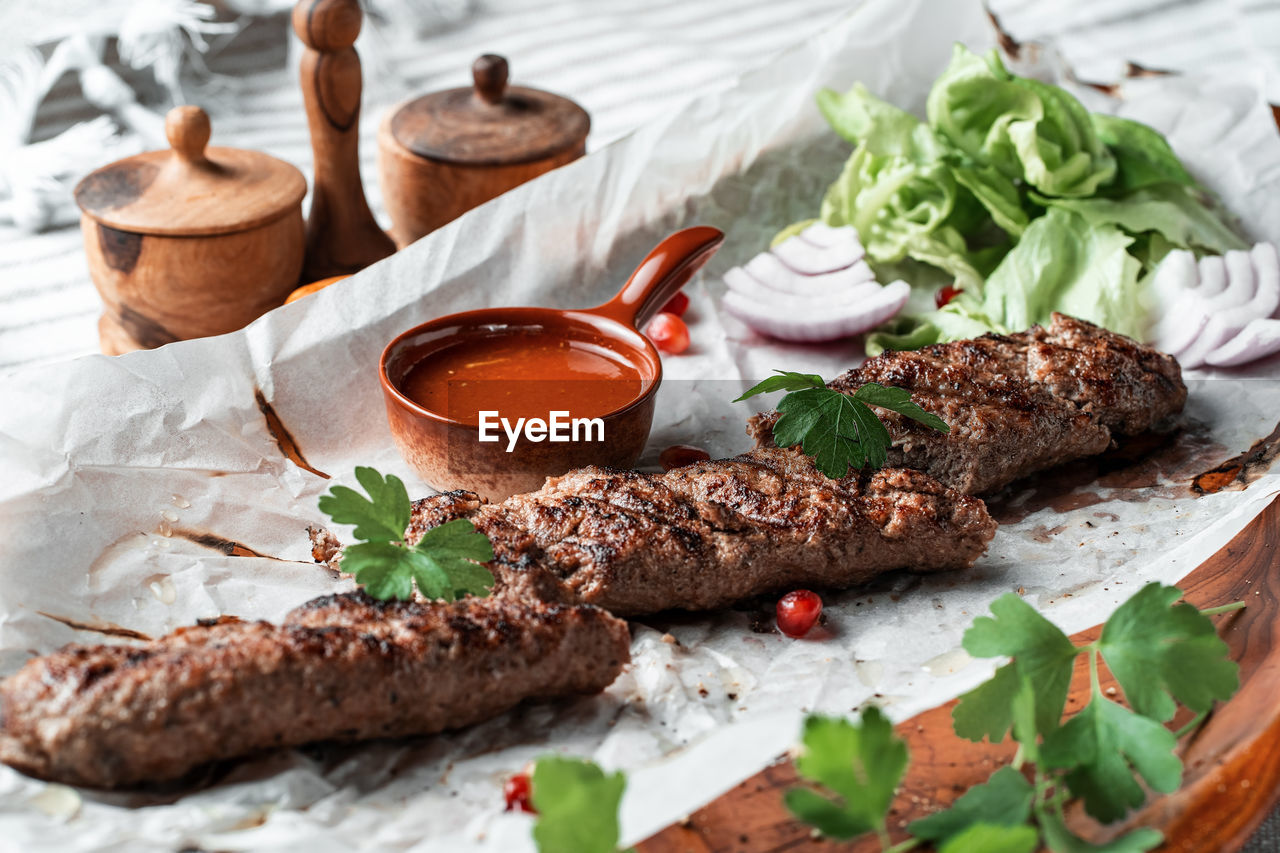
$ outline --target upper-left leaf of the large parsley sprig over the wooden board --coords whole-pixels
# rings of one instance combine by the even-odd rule
[[[974,657],[1010,654],[1014,662],[997,670],[996,679],[960,698],[951,716],[956,734],[980,740],[986,734],[998,743],[1012,722],[1014,697],[1023,680],[1032,685],[1036,699],[1036,729],[1048,733],[1057,727],[1071,685],[1071,671],[1079,653],[1053,622],[1014,593],[991,603],[992,616],[979,616],[964,634],[964,648]],[[1012,667],[1012,671],[1009,669]],[[974,706],[966,707],[966,703]],[[1001,708],[1007,703],[1009,710]],[[992,715],[983,725],[983,715]],[[963,729],[963,730],[961,730]]]

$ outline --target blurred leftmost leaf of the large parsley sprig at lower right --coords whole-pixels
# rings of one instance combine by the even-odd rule
[[[804,752],[796,772],[835,797],[792,788],[785,802],[791,813],[823,835],[851,839],[884,835],[884,816],[906,771],[906,742],[879,708],[863,712],[860,725],[842,717],[810,715],[804,722]]]

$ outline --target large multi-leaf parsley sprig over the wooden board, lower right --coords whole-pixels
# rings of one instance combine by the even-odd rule
[[[877,708],[859,724],[810,716],[796,771],[812,788],[787,792],[792,813],[819,833],[850,839],[868,831],[892,853],[924,841],[940,853],[1143,853],[1161,835],[1143,827],[1106,844],[1073,834],[1064,804],[1079,798],[1102,822],[1123,818],[1146,802],[1139,779],[1169,793],[1181,784],[1178,734],[1165,727],[1178,704],[1197,720],[1239,686],[1236,665],[1208,620],[1243,607],[1199,611],[1175,603],[1183,593],[1152,583],[1121,605],[1097,640],[1075,646],[1056,625],[1014,594],[996,599],[991,616],[965,631],[974,657],[1010,657],[991,680],[960,697],[956,734],[969,740],[1018,743],[1014,763],[970,788],[946,811],[911,822],[905,841],[890,845],[884,829],[893,793],[906,772],[906,744]],[[1091,698],[1061,721],[1071,672],[1087,656]],[[1098,680],[1106,662],[1129,707],[1108,699]],[[822,792],[822,793],[819,793]]]

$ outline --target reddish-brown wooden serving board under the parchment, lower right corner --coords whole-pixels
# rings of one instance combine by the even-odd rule
[[[1280,498],[1221,551],[1187,575],[1179,587],[1197,607],[1244,601],[1244,610],[1215,617],[1233,660],[1240,665],[1240,690],[1219,706],[1197,731],[1180,744],[1185,763],[1183,786],[1157,797],[1123,825],[1102,827],[1074,804],[1071,827],[1102,841],[1133,826],[1153,826],[1165,834],[1162,852],[1231,853],[1240,849],[1280,800]],[[1101,625],[1075,634],[1087,643]],[[1088,698],[1084,657],[1071,684],[1068,712]],[[1102,685],[1115,685],[1102,667]],[[970,743],[951,727],[948,702],[897,726],[911,751],[906,780],[890,813],[895,843],[918,817],[946,807],[986,779],[1014,754],[1010,739],[1001,744]],[[1183,711],[1170,724],[1188,721]],[[797,733],[799,736],[799,733]],[[733,788],[685,821],[668,826],[636,847],[639,853],[772,853],[781,850],[878,849],[874,836],[838,844],[817,839],[791,818],[782,792],[799,783],[790,760],[780,760]],[[927,849],[927,848],[920,848]]]

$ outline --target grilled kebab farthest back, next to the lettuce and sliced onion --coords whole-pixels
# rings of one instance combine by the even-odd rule
[[[893,438],[888,464],[965,494],[1101,453],[1114,435],[1148,430],[1187,402],[1172,356],[1064,314],[1018,334],[884,352],[828,387],[852,393],[868,382],[906,388],[951,426],[940,433],[877,409]],[[758,447],[773,443],[777,418],[749,421]]]

